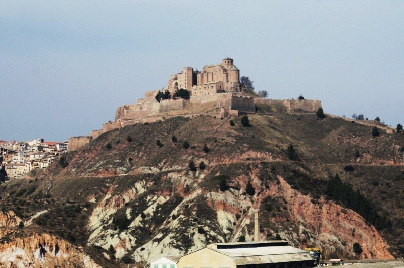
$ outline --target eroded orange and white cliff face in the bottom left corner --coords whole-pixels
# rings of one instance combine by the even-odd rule
[[[100,267],[80,248],[57,239],[53,235],[32,233],[27,237],[13,238],[13,231],[0,231],[0,263],[6,267]]]

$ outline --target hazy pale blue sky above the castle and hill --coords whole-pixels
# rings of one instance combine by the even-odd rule
[[[404,1],[0,0],[0,140],[64,141],[184,66],[404,123]]]

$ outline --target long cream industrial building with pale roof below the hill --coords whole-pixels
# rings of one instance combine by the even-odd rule
[[[305,250],[286,241],[213,243],[180,258],[178,268],[291,268],[314,267]]]

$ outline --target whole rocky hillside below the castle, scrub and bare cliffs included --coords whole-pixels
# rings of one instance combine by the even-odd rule
[[[1,254],[25,250],[24,239],[39,241],[27,249],[36,252],[46,235],[47,252],[59,239],[75,248],[64,256],[81,263],[144,264],[250,241],[260,210],[261,239],[318,246],[326,257],[403,256],[403,135],[372,137],[370,126],[314,114],[249,119],[127,126],[0,185],[0,223],[10,223],[0,228],[13,232]],[[30,224],[20,228],[20,220]]]

